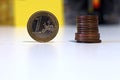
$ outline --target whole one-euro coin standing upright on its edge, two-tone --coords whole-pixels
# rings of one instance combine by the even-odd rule
[[[48,42],[57,35],[59,23],[52,13],[48,11],[38,11],[29,18],[27,30],[34,40]]]

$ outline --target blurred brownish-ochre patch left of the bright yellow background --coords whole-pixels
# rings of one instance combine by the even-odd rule
[[[0,25],[13,25],[13,0],[0,0]]]

